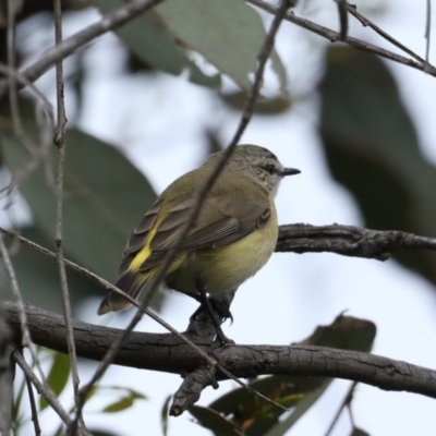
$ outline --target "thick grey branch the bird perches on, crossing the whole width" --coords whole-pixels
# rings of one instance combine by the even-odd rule
[[[20,330],[14,303],[4,305],[5,319]],[[26,306],[35,343],[66,352],[63,317]],[[122,330],[73,322],[77,355],[101,359]],[[20,334],[17,335],[20,338]],[[196,338],[199,346],[210,344]],[[238,377],[290,374],[346,378],[385,390],[409,391],[436,398],[436,371],[378,355],[310,346],[226,346],[215,351],[218,362]],[[173,374],[192,373],[203,362],[195,350],[172,335],[132,332],[113,363]],[[223,378],[219,376],[219,378]]]

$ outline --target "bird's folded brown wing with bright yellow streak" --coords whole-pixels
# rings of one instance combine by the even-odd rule
[[[225,198],[225,199],[222,199]],[[184,223],[195,207],[195,195],[180,201],[161,219],[161,204],[157,202],[134,230],[124,250],[120,272],[141,261],[137,269],[146,271],[160,264],[181,234]],[[203,247],[220,247],[235,242],[268,222],[268,197],[259,192],[256,198],[246,195],[208,196],[204,202],[196,225],[190,230],[181,252]],[[198,225],[201,223],[201,225]],[[135,268],[136,269],[136,268]]]

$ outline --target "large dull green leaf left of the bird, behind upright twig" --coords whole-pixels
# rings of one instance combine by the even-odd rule
[[[28,104],[23,106],[26,108]],[[23,120],[27,134],[38,143],[33,120],[24,117]],[[1,147],[12,173],[33,159],[7,129],[2,131]],[[35,226],[49,239],[55,237],[56,193],[47,174],[53,175],[56,160],[53,146],[45,166],[39,166],[20,185],[31,205]],[[84,132],[68,131],[63,196],[66,258],[113,281],[124,244],[155,198],[148,181],[118,149]],[[155,307],[162,295],[156,293]]]

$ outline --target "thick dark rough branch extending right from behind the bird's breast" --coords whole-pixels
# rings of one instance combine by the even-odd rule
[[[353,226],[280,226],[276,252],[320,253],[386,261],[390,253],[408,249],[436,251],[436,239],[397,230],[368,230]]]

